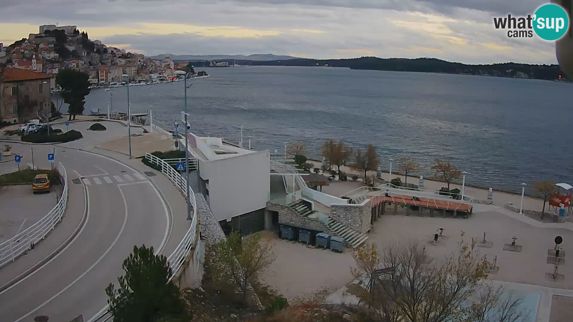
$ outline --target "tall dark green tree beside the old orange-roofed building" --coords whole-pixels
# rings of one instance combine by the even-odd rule
[[[73,69],[61,70],[56,76],[56,84],[62,88],[64,103],[69,104],[69,120],[84,112],[85,96],[89,94],[88,74]]]

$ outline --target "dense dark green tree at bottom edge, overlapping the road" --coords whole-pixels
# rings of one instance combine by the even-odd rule
[[[121,265],[125,275],[117,278],[119,288],[109,283],[109,311],[115,322],[154,322],[181,317],[184,311],[179,288],[169,280],[173,274],[167,257],[155,255],[153,247],[134,246]]]

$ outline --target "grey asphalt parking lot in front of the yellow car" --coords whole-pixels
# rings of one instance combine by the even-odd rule
[[[60,190],[61,186],[53,186],[50,193],[33,194],[29,184],[0,186],[0,242],[44,217],[56,205]]]

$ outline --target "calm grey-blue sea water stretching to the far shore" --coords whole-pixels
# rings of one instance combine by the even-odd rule
[[[201,70],[202,68],[199,68]],[[284,150],[303,140],[318,157],[325,139],[378,147],[388,158],[414,156],[431,174],[434,158],[470,172],[466,183],[521,192],[520,183],[573,183],[571,84],[553,81],[343,68],[205,68],[188,108],[199,135]],[[113,109],[127,111],[126,88]],[[154,109],[172,126],[183,109],[183,82],[130,87],[132,112]],[[107,111],[108,92],[93,90],[86,110]]]

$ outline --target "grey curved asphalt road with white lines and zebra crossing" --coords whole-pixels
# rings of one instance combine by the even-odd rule
[[[34,146],[34,156],[47,159],[52,149]],[[57,322],[83,315],[88,321],[107,304],[105,286],[123,274],[121,263],[134,245],[161,249],[167,241],[170,214],[147,177],[107,157],[64,147],[56,147],[58,161],[68,183],[83,184],[87,197],[85,209],[67,211],[85,211],[87,220],[61,253],[0,293],[1,321],[28,322],[38,315]],[[47,160],[38,163],[48,167]],[[81,183],[72,183],[78,176]]]

